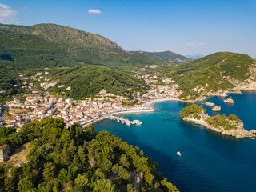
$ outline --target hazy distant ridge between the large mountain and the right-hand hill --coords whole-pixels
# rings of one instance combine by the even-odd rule
[[[181,54],[176,54],[171,51],[163,51],[163,52],[146,52],[142,50],[138,51],[129,51],[131,54],[145,54],[150,58],[158,58],[166,62],[180,63],[180,62],[190,62],[190,58],[186,58]]]

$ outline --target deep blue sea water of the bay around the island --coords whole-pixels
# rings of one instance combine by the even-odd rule
[[[221,106],[220,114],[236,114],[246,130],[256,129],[256,92],[230,96],[234,105],[224,103],[225,98],[219,97],[208,102]],[[142,121],[142,126],[126,126],[106,119],[94,128],[108,130],[122,141],[139,146],[158,162],[158,170],[181,191],[256,191],[256,140],[232,138],[183,122],[179,111],[186,105],[160,102],[154,104],[154,113],[124,115]],[[213,114],[210,106],[204,107]]]

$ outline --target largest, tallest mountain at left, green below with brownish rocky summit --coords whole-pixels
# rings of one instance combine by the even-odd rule
[[[166,62],[145,55],[130,54],[117,43],[98,34],[68,26],[0,24],[0,54],[7,54],[13,67],[55,67],[101,65],[134,70]]]

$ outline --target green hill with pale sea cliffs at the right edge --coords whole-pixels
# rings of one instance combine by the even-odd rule
[[[182,98],[197,98],[201,94],[225,94],[229,89],[251,89],[255,63],[246,54],[219,52],[170,67],[166,74],[185,91]]]

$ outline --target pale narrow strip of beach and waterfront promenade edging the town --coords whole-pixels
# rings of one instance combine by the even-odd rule
[[[148,109],[146,110],[124,110],[124,111],[119,111],[119,112],[114,112],[114,113],[110,113],[110,114],[105,114],[103,115],[101,118],[95,119],[92,122],[88,122],[84,125],[82,125],[82,128],[85,129],[86,126],[90,126],[93,125],[96,122],[101,122],[107,118],[110,118],[112,115],[116,115],[116,114],[140,114],[140,113],[152,113],[154,112],[154,103],[157,102],[166,102],[166,101],[180,101],[178,98],[172,98],[172,97],[168,97],[168,98],[156,98],[156,99],[151,99],[150,101],[146,102],[146,105],[148,106]]]

